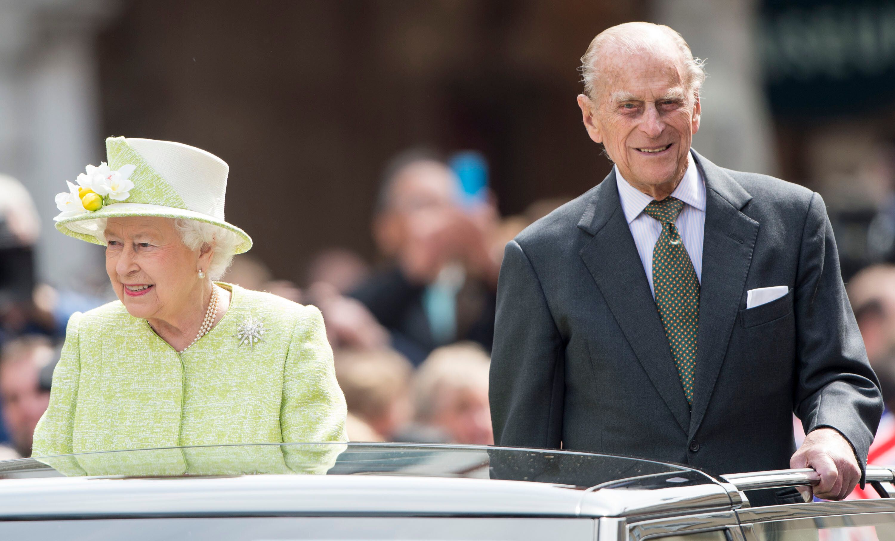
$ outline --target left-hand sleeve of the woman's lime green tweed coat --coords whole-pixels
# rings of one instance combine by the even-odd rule
[[[47,413],[34,431],[33,456],[50,456],[72,452],[72,426],[81,377],[81,337],[78,332],[81,312],[75,312],[65,328],[62,356],[53,371],[53,393]],[[65,475],[84,475],[72,458],[45,461]]]

